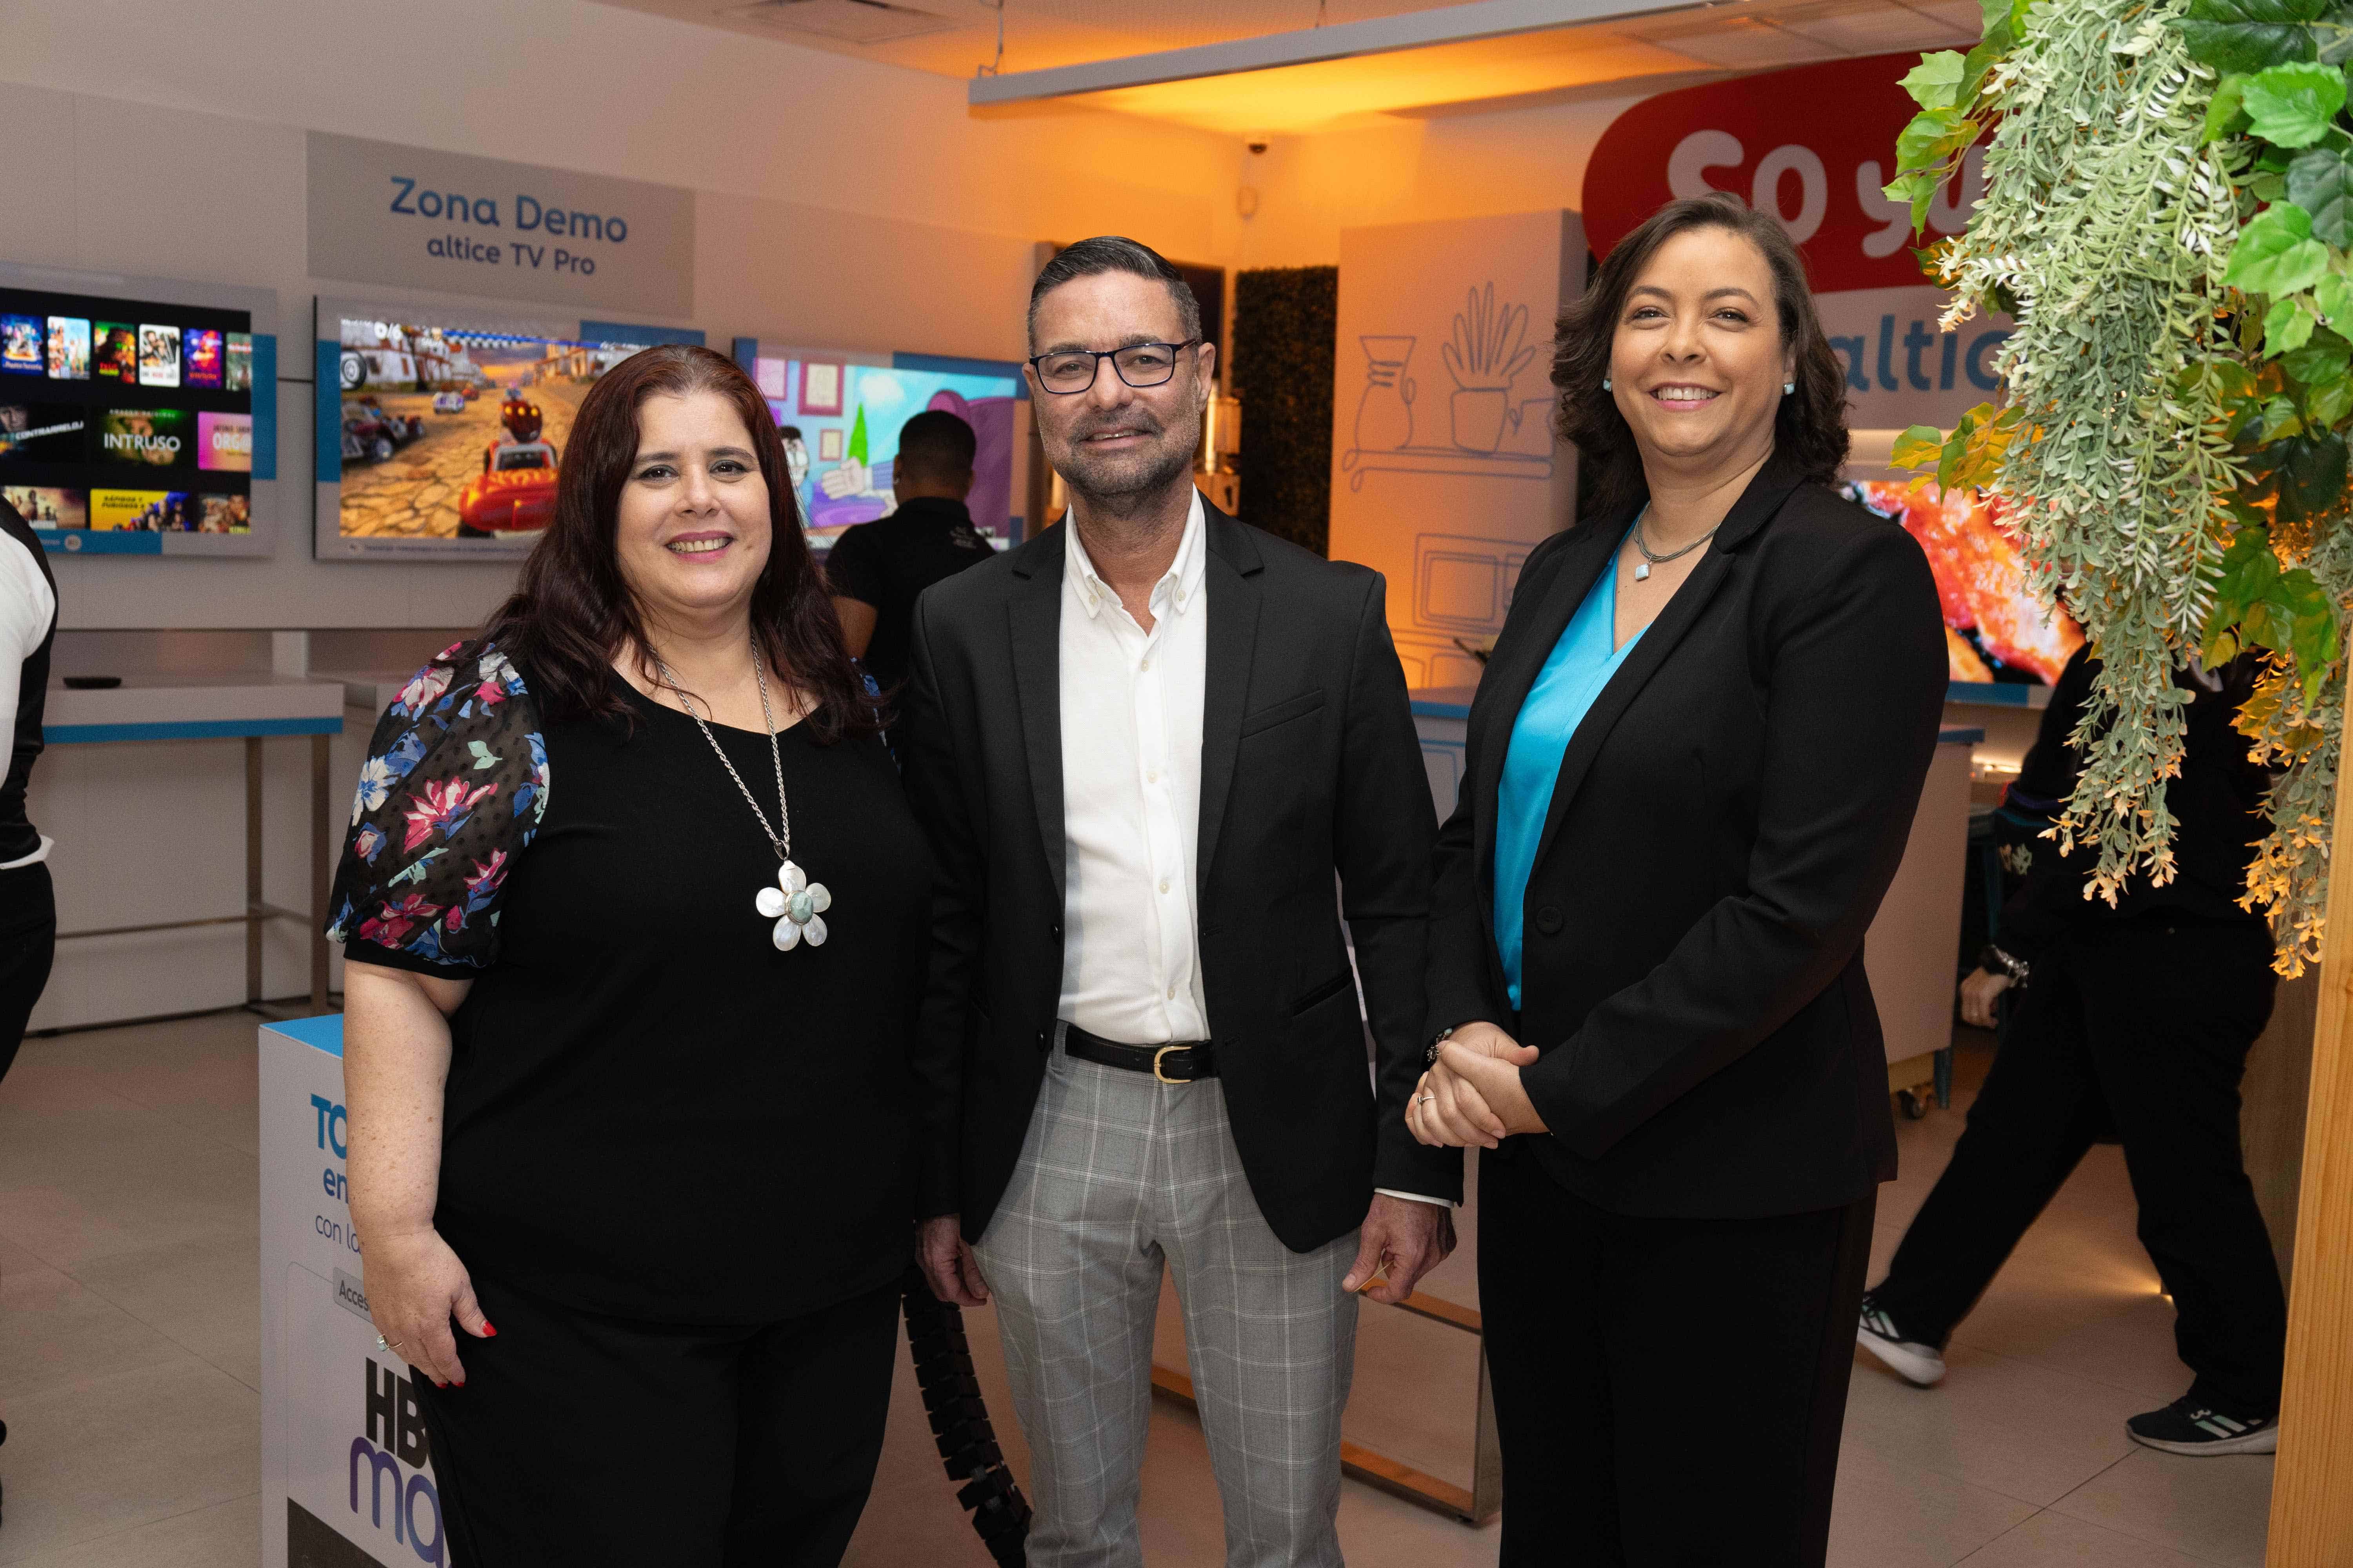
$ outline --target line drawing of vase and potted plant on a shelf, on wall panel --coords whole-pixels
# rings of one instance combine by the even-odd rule
[[[1551,393],[1515,395],[1520,374],[1537,362],[1527,341],[1527,306],[1497,306],[1494,282],[1471,289],[1454,315],[1454,339],[1438,346],[1454,388],[1442,402],[1419,407],[1421,383],[1409,374],[1414,336],[1365,334],[1365,393],[1355,404],[1355,447],[1341,454],[1348,489],[1365,475],[1445,473],[1494,480],[1553,475]]]

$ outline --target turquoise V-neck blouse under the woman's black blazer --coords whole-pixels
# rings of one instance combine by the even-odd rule
[[[1537,842],[1544,837],[1544,818],[1553,809],[1553,783],[1560,778],[1560,759],[1569,750],[1569,736],[1584,724],[1593,698],[1602,693],[1617,668],[1642,632],[1621,646],[1609,646],[1617,635],[1617,555],[1609,569],[1586,592],[1586,602],[1569,616],[1537,684],[1520,703],[1520,717],[1511,724],[1511,750],[1504,755],[1504,778],[1494,806],[1494,945],[1504,959],[1504,978],[1511,983],[1511,1006],[1520,1006],[1520,947],[1522,917],[1527,905],[1527,877],[1537,870]]]

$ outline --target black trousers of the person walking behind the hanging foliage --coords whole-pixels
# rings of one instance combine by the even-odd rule
[[[2174,1298],[2191,1396],[2228,1415],[2280,1408],[2287,1300],[2240,1164],[2238,1081],[2271,1020],[2271,936],[2254,922],[2087,926],[2033,985],[1873,1300],[1944,1345],[2026,1227],[2113,1126],[2141,1246]]]

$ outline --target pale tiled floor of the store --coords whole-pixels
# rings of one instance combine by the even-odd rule
[[[221,1013],[33,1039],[0,1084],[0,1563],[252,1568],[259,1556],[254,1023]],[[1958,1107],[1899,1133],[1904,1180],[1880,1201],[1880,1260],[1944,1166]],[[1468,1248],[1428,1288],[1475,1300]],[[1162,1335],[1162,1361],[1181,1366],[1167,1312]],[[986,1314],[972,1340],[1024,1474]],[[2186,1373],[2115,1150],[2094,1150],[2059,1194],[1951,1366],[1934,1392],[1857,1366],[1833,1563],[2261,1563],[2271,1460],[2177,1460],[2125,1439],[2122,1418],[2172,1399]],[[1367,1307],[1351,1436],[1468,1483],[1473,1373],[1468,1335]],[[1144,1514],[1155,1566],[1221,1561],[1200,1429],[1169,1403],[1155,1408]],[[1341,1540],[1358,1568],[1497,1556],[1494,1528],[1355,1481]],[[988,1561],[904,1363],[849,1561]]]

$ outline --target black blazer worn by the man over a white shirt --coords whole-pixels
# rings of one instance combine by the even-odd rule
[[[1304,1253],[1360,1225],[1374,1187],[1461,1197],[1461,1152],[1405,1131],[1435,813],[1381,576],[1212,505],[1202,527],[1200,973],[1242,1173]],[[922,1211],[962,1213],[967,1237],[1021,1159],[1061,999],[1064,555],[1045,529],[915,607],[901,755],[941,865]]]

